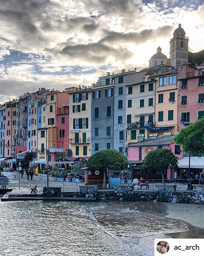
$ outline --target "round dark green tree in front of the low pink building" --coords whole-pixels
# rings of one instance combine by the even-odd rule
[[[162,173],[162,182],[164,184],[164,171],[169,167],[177,168],[178,158],[173,152],[166,148],[157,148],[150,151],[142,161],[144,170],[158,170]]]

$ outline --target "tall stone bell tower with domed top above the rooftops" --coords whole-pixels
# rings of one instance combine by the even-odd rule
[[[170,66],[178,66],[188,63],[188,37],[179,24],[173,32],[170,43]]]

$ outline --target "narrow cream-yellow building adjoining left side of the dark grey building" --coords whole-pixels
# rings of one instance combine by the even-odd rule
[[[69,142],[73,157],[91,156],[91,89],[69,94]]]

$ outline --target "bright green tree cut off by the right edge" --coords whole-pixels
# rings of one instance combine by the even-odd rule
[[[174,141],[184,152],[201,156],[204,153],[204,117],[182,128]]]

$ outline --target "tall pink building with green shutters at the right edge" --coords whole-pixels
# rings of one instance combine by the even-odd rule
[[[178,131],[204,116],[204,75],[188,64],[178,66]]]

